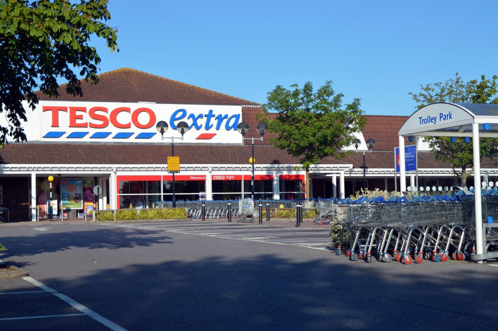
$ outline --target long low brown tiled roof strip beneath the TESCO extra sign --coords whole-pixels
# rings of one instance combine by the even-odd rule
[[[89,153],[91,151],[91,153]],[[0,164],[147,164],[161,165],[171,155],[169,144],[51,144],[9,143],[0,151]],[[448,168],[447,164],[434,161],[432,153],[419,152],[420,168]],[[182,164],[249,164],[250,145],[212,145],[175,143],[175,156]],[[256,164],[299,164],[297,158],[285,150],[269,145],[254,148]],[[363,153],[353,152],[342,160],[332,157],[320,160],[320,164],[353,164],[363,166]],[[370,168],[392,168],[393,151],[366,153]],[[483,160],[483,168],[495,168],[494,160]]]

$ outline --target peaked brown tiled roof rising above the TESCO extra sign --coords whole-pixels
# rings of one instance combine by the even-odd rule
[[[40,100],[155,102],[158,104],[188,105],[254,105],[257,103],[226,94],[180,83],[171,79],[130,68],[122,68],[99,75],[98,84],[81,81],[83,97],[66,93],[66,85],[59,87],[59,98],[49,98],[40,91]]]

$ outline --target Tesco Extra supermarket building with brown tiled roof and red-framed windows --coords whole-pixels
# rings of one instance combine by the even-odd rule
[[[259,137],[259,104],[128,68],[99,75],[97,85],[82,81],[82,89],[83,97],[66,94],[64,85],[57,99],[38,93],[36,110],[26,107],[28,142],[10,142],[0,150],[0,203],[10,221],[34,221],[32,207],[38,205],[45,216],[49,176],[54,177],[54,214],[65,217],[81,217],[84,203],[97,203],[99,209],[151,208],[156,201],[172,200],[172,174],[166,165],[171,141],[180,158],[176,200],[250,197],[251,141],[243,139],[237,125],[247,122],[246,137]],[[358,133],[359,152],[311,167],[312,197],[345,197],[364,186],[362,150],[369,138],[376,143],[365,153],[367,187],[399,187],[394,148],[408,116],[366,117]],[[169,125],[164,140],[156,130],[160,120]],[[189,124],[183,140],[175,130],[179,121]],[[296,169],[297,158],[269,144],[270,136],[254,140],[255,198],[302,198],[304,171]],[[405,145],[410,144],[407,139]],[[416,186],[416,179],[423,187],[456,184],[452,169],[435,161],[427,146],[420,143],[417,156],[418,176],[408,173],[407,186]],[[482,161],[489,180],[498,179],[494,163]],[[93,194],[96,185],[102,190],[99,196]]]

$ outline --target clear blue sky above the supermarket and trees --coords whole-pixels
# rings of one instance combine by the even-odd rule
[[[110,0],[129,67],[264,103],[276,85],[333,81],[366,114],[409,115],[409,92],[498,74],[498,1]]]

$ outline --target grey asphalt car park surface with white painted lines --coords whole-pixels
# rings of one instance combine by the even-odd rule
[[[0,225],[1,330],[494,329],[498,267],[352,262],[327,226]],[[40,285],[41,284],[41,285]]]

